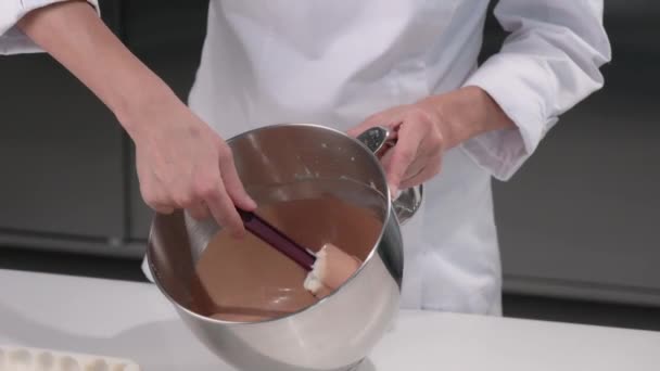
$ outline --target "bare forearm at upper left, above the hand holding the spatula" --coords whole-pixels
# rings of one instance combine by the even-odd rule
[[[175,98],[84,1],[66,1],[28,13],[18,27],[85,84],[118,117],[129,135],[137,107]]]

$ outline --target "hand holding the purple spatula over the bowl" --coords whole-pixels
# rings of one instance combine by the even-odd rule
[[[253,210],[256,204],[239,179],[227,143],[178,99],[139,116],[139,124],[127,126],[140,128],[131,138],[144,202],[163,214],[185,208],[195,219],[213,216],[233,235],[242,235],[236,207]]]

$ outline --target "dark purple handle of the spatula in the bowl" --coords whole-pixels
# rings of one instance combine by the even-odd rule
[[[299,245],[285,234],[272,227],[269,222],[262,219],[258,215],[245,210],[238,210],[243,219],[245,229],[259,238],[265,243],[277,248],[280,253],[288,256],[306,271],[312,270],[316,257],[305,247]]]

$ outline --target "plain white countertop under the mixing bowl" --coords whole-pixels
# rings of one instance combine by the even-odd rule
[[[0,345],[129,358],[144,371],[231,370],[144,283],[0,269]],[[404,310],[360,368],[390,370],[657,371],[660,333]]]

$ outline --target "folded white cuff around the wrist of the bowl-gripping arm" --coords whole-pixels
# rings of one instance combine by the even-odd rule
[[[509,180],[557,123],[556,117],[546,116],[544,99],[538,95],[543,89],[536,87],[540,81],[524,78],[546,76],[543,69],[522,55],[493,55],[464,84],[486,91],[516,125],[516,129],[485,132],[460,145],[498,180]]]

